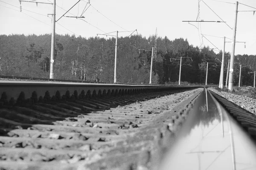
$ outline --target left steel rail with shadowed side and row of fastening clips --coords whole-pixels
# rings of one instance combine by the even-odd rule
[[[194,89],[198,86],[161,86],[161,85],[118,85],[93,84],[75,82],[29,82],[0,81],[0,101],[14,103],[26,99],[38,101],[41,99],[61,98],[63,96],[122,96],[153,91],[169,91]],[[29,101],[28,101],[29,102]]]

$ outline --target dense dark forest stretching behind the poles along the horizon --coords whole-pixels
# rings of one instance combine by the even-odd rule
[[[131,35],[118,38],[117,82],[149,83],[152,47],[155,36]],[[55,79],[77,79],[113,83],[114,37],[55,36]],[[183,84],[204,84],[207,62],[208,84],[219,82],[222,51],[216,53],[209,47],[190,45],[188,40],[169,40],[157,37],[156,57],[153,58],[152,83],[177,84],[180,57],[181,81]],[[51,35],[0,35],[0,75],[49,78]],[[230,53],[225,53],[224,82]],[[236,55],[234,60],[234,85],[253,85],[256,70],[255,55]]]

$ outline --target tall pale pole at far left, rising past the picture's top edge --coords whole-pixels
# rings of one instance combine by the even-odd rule
[[[56,12],[56,0],[53,0],[53,14],[52,14],[52,42],[51,42],[51,60],[50,60],[50,79],[54,79],[54,51],[55,51],[55,12]]]

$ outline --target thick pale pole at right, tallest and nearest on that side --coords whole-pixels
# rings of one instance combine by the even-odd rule
[[[236,45],[236,21],[237,21],[237,9],[238,9],[238,1],[236,1],[235,8],[235,17],[234,17],[234,25],[233,25],[233,37],[232,37],[232,48],[231,48],[231,56],[230,56],[230,70],[229,70],[229,80],[228,80],[228,90],[233,90],[233,65],[234,65],[234,55],[235,55],[235,45]]]

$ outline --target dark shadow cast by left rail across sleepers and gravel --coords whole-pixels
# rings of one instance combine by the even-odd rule
[[[76,132],[78,127],[93,127],[90,120],[86,122],[78,122],[76,118],[85,118],[87,113],[93,111],[105,111],[110,108],[116,108],[119,105],[128,105],[137,101],[144,101],[166,94],[177,93],[174,90],[166,92],[141,93],[137,95],[115,95],[96,97],[93,95],[66,94],[62,98],[58,95],[49,96],[46,93],[44,98],[24,99],[24,94],[20,94],[19,99],[14,105],[2,105],[0,107],[0,136],[19,137],[12,130],[39,130],[39,131],[56,131],[52,129],[52,125],[65,125]],[[74,93],[75,94],[75,93]],[[2,98],[4,94],[2,94]],[[33,96],[33,95],[32,95]],[[48,97],[47,97],[48,96]],[[58,97],[56,97],[58,96]],[[0,101],[1,102],[1,101]],[[111,120],[109,120],[111,121]],[[61,130],[61,127],[58,129]]]

